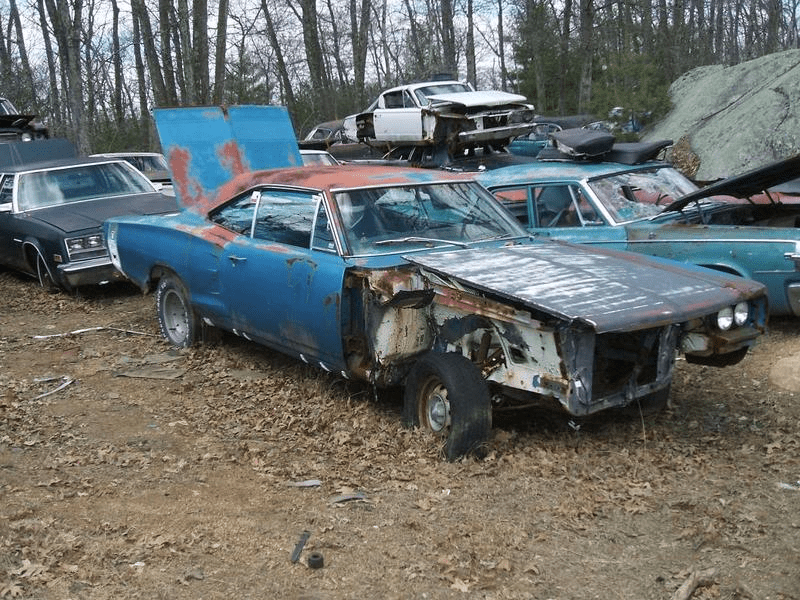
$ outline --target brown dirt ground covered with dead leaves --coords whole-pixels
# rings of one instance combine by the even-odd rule
[[[396,394],[171,351],[131,287],[0,290],[0,599],[800,598],[798,321],[660,415],[495,415],[446,463]]]

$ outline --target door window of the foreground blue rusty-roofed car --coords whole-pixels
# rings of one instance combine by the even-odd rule
[[[253,237],[309,248],[318,198],[309,192],[262,190]]]

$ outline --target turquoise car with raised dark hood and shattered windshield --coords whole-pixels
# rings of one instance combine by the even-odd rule
[[[552,135],[598,139],[582,131]],[[800,156],[698,189],[672,165],[652,159],[668,144],[614,144],[594,158],[547,148],[538,160],[476,178],[537,238],[754,279],[767,286],[772,315],[800,316],[800,205],[776,194],[756,199],[796,178]]]

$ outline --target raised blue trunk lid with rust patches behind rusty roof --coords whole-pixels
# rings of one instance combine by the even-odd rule
[[[236,175],[303,164],[282,106],[157,108],[153,116],[184,208],[207,208]]]

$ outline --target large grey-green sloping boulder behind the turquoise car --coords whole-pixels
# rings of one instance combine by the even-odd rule
[[[687,174],[698,181],[800,153],[798,49],[730,67],[698,67],[676,80],[669,94],[672,110],[644,139],[681,140],[677,149],[691,160],[676,156],[676,163],[693,164],[696,171]]]

